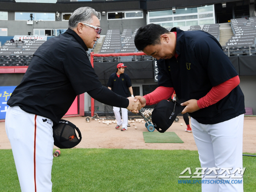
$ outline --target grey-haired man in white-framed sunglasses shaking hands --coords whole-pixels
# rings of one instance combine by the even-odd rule
[[[5,129],[22,192],[51,192],[53,124],[59,123],[77,95],[87,92],[99,102],[129,110],[141,108],[102,86],[86,51],[100,38],[98,12],[81,7],[68,30],[43,43],[20,85],[7,101]]]

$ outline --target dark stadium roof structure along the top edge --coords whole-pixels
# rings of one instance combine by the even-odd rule
[[[93,7],[97,11],[136,10],[147,11],[166,10],[172,7],[189,8],[231,2],[234,0],[115,0],[115,1],[63,1],[54,3],[17,3],[13,0],[0,0],[0,11],[38,11],[38,12],[72,12],[79,7]],[[235,1],[234,1],[235,2]],[[124,9],[125,7],[125,9]]]

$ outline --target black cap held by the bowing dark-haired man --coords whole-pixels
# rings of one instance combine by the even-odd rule
[[[185,106],[180,105],[183,102],[185,99],[180,99],[177,102],[162,100],[157,103],[152,111],[151,120],[158,132],[164,133],[173,124],[177,115],[185,108]]]

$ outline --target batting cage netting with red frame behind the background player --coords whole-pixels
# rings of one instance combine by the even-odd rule
[[[125,73],[129,75],[132,81],[133,95],[146,95],[157,88],[155,77],[155,62],[152,56],[145,55],[143,52],[135,53],[112,53],[112,54],[94,54],[90,55],[91,65],[103,86],[106,86],[111,74],[116,73],[118,63],[124,63]],[[129,93],[130,94],[130,93]],[[131,95],[131,94],[130,94]],[[106,119],[115,119],[113,106],[105,105],[87,95],[87,107],[85,107],[85,116],[93,117],[97,114]],[[87,110],[86,110],[87,108]],[[154,108],[154,105],[145,106],[145,108]],[[121,113],[121,110],[120,110]],[[128,119],[142,118],[140,114],[134,114],[128,111]]]

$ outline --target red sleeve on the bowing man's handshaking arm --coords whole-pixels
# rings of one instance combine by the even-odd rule
[[[153,92],[144,95],[143,97],[146,99],[146,105],[154,105],[163,99],[168,99],[172,96],[174,91],[173,87],[163,87],[159,86]]]

